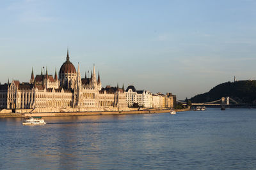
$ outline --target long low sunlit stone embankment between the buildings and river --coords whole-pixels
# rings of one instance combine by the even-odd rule
[[[190,108],[175,110],[176,112],[189,111]],[[170,113],[170,109],[162,110],[137,110],[137,111],[84,111],[84,112],[52,112],[52,113],[1,113],[0,118],[22,118],[22,117],[72,117],[92,115],[131,115],[131,114],[154,114]]]

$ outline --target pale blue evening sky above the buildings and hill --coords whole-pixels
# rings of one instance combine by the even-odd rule
[[[178,99],[219,83],[256,79],[253,0],[2,0],[0,82],[28,82],[70,61],[102,85],[172,92]]]

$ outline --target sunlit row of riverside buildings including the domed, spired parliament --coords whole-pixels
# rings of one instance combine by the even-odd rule
[[[79,64],[70,62],[67,51],[66,61],[54,76],[34,76],[33,69],[28,83],[13,80],[0,84],[0,109],[19,113],[74,112],[74,111],[127,111],[134,103],[144,108],[172,108],[175,96],[152,94],[147,90],[136,90],[133,86],[124,90],[107,86],[102,88],[95,66],[89,78],[81,78]]]

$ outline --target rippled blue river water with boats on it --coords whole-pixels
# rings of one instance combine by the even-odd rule
[[[253,169],[256,110],[0,119],[0,169]]]

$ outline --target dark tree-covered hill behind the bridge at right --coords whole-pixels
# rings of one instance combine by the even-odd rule
[[[256,80],[221,83],[209,92],[192,97],[190,101],[192,103],[206,103],[228,96],[238,103],[256,104]]]

